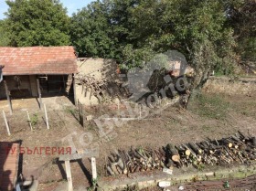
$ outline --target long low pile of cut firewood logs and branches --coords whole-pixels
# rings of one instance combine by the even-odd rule
[[[173,167],[205,165],[251,164],[256,160],[256,138],[236,133],[221,140],[205,140],[200,143],[167,144],[153,150],[131,148],[115,151],[109,158],[106,170],[109,175],[127,175]]]

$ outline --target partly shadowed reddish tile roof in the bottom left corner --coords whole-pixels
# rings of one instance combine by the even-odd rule
[[[18,171],[19,143],[0,143],[0,190],[13,190]]]

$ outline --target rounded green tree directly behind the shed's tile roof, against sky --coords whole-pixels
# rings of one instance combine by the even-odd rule
[[[69,45],[69,16],[59,0],[7,0],[10,45]]]

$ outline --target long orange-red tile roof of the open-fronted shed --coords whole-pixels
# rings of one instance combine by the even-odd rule
[[[73,47],[0,48],[3,75],[72,74],[77,72]]]

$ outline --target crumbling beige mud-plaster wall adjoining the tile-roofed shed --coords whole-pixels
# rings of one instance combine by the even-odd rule
[[[118,65],[114,59],[78,58],[77,65],[76,101],[83,105],[95,105],[100,102],[99,99],[110,98],[118,92]]]

